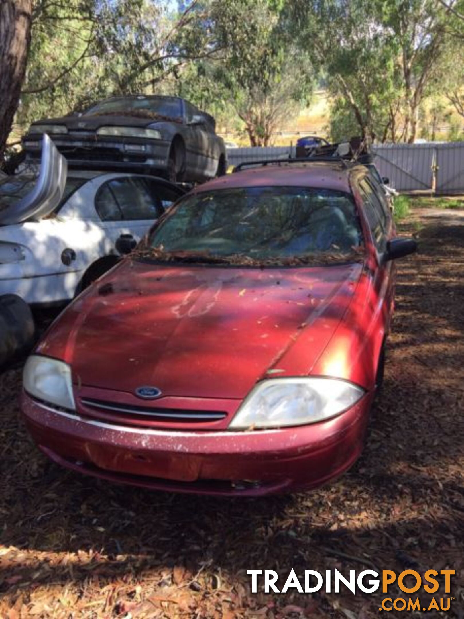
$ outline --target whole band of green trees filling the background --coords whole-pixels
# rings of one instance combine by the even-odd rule
[[[333,139],[413,141],[424,101],[464,116],[464,0],[34,0],[17,139],[124,93],[176,93],[269,144],[324,81]],[[317,75],[319,72],[319,76]],[[445,110],[423,118],[433,138]],[[460,136],[456,121],[450,139]]]

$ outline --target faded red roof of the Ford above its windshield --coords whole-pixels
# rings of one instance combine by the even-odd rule
[[[293,186],[336,189],[351,193],[350,174],[362,166],[346,167],[339,162],[298,162],[261,165],[205,183],[195,192],[239,187]]]

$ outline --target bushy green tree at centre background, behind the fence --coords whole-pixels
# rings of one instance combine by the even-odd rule
[[[179,80],[183,94],[218,118],[238,116],[251,145],[270,144],[273,131],[311,95],[314,71],[291,40],[283,6],[283,0],[222,2],[211,14],[221,53],[195,62]]]

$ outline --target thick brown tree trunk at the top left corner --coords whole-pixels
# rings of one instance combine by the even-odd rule
[[[26,72],[31,11],[32,0],[0,0],[0,159]]]

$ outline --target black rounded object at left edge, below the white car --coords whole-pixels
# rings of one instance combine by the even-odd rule
[[[0,297],[0,367],[30,350],[35,323],[28,304],[17,295]]]

